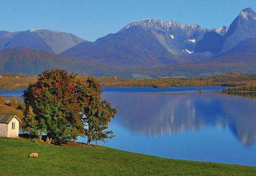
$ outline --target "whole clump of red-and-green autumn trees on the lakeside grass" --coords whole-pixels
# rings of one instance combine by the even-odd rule
[[[86,136],[88,144],[112,138],[107,127],[116,111],[101,100],[101,94],[100,85],[90,76],[83,81],[65,70],[45,71],[24,91],[24,130],[39,138],[45,133],[56,142],[78,136]]]

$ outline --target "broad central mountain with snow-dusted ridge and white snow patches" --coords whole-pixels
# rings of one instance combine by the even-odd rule
[[[199,25],[145,19],[95,42],[82,42],[62,54],[119,67],[182,63],[191,61],[184,55],[193,53],[196,43],[207,31],[210,30]]]

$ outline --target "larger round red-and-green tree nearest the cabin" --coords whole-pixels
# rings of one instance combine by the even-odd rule
[[[37,129],[57,142],[74,140],[83,133],[78,81],[76,74],[53,69],[39,75],[37,82],[24,91],[25,115],[29,115],[31,106]]]

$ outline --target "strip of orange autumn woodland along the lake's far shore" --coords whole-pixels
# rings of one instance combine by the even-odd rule
[[[87,75],[78,75],[82,80]],[[256,74],[227,73],[204,78],[154,78],[134,80],[118,77],[95,77],[103,87],[198,87],[198,86],[242,86],[256,83]],[[29,84],[36,82],[37,76],[5,75],[0,79],[0,90],[25,89]]]

